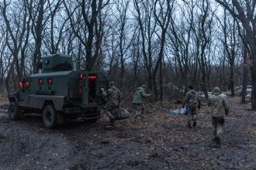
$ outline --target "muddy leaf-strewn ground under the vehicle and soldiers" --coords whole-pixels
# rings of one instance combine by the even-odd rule
[[[204,109],[199,126],[185,127],[184,115],[150,104],[142,123],[72,121],[54,130],[41,117],[9,121],[0,107],[0,169],[256,169],[256,113],[229,98],[222,145],[211,141]]]

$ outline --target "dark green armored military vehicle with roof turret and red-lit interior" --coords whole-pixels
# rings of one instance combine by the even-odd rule
[[[65,118],[100,117],[104,102],[99,94],[107,88],[103,73],[73,70],[71,56],[62,54],[44,57],[40,69],[41,73],[25,76],[19,90],[9,94],[11,120],[38,113],[47,128],[54,128]]]

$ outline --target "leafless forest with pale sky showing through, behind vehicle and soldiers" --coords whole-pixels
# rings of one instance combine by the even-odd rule
[[[256,110],[255,0],[2,0],[0,87],[15,90],[41,57],[70,54],[76,70],[102,70],[119,87],[252,85]]]

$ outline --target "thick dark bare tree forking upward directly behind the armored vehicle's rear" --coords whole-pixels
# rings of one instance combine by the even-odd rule
[[[86,70],[92,70],[94,68],[96,59],[99,56],[99,49],[102,43],[102,9],[109,4],[109,0],[92,0],[92,2],[86,2],[82,0],[71,12],[71,8],[67,6],[67,2],[64,1],[64,6],[67,11],[68,19],[71,23],[71,28],[74,32],[74,35],[81,41],[83,46],[85,46],[86,51]],[[81,34],[80,28],[76,29],[74,24],[73,14],[77,8],[81,7],[81,15],[83,22],[85,23],[86,29],[84,28],[84,34]],[[77,22],[80,22],[79,20]],[[85,36],[85,39],[84,39]],[[95,48],[94,47],[95,42]],[[94,51],[94,53],[93,53]]]

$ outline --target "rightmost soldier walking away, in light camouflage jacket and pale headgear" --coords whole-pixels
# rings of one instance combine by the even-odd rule
[[[220,94],[220,88],[215,87],[208,100],[208,113],[212,115],[213,141],[217,145],[220,145],[220,135],[223,134],[224,114],[228,114],[229,111],[225,97]]]

